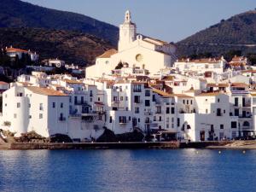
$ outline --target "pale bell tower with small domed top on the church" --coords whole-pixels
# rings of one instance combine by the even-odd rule
[[[125,21],[119,26],[119,51],[129,48],[136,39],[136,24],[131,22],[131,12],[125,12]]]

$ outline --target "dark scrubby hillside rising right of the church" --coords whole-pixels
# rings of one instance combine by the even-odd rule
[[[201,53],[222,55],[241,50],[243,55],[256,53],[256,10],[221,20],[218,24],[177,42],[179,56]]]

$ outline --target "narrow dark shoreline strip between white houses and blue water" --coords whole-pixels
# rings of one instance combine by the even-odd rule
[[[29,149],[256,149],[256,141],[131,143],[0,143],[0,150]]]

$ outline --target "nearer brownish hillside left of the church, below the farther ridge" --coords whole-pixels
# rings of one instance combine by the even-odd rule
[[[37,51],[40,59],[60,58],[68,63],[92,64],[97,55],[113,48],[102,38],[82,32],[42,28],[0,28],[0,47]]]

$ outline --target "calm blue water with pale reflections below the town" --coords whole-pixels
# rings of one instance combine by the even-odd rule
[[[0,191],[251,192],[256,150],[0,151]]]

